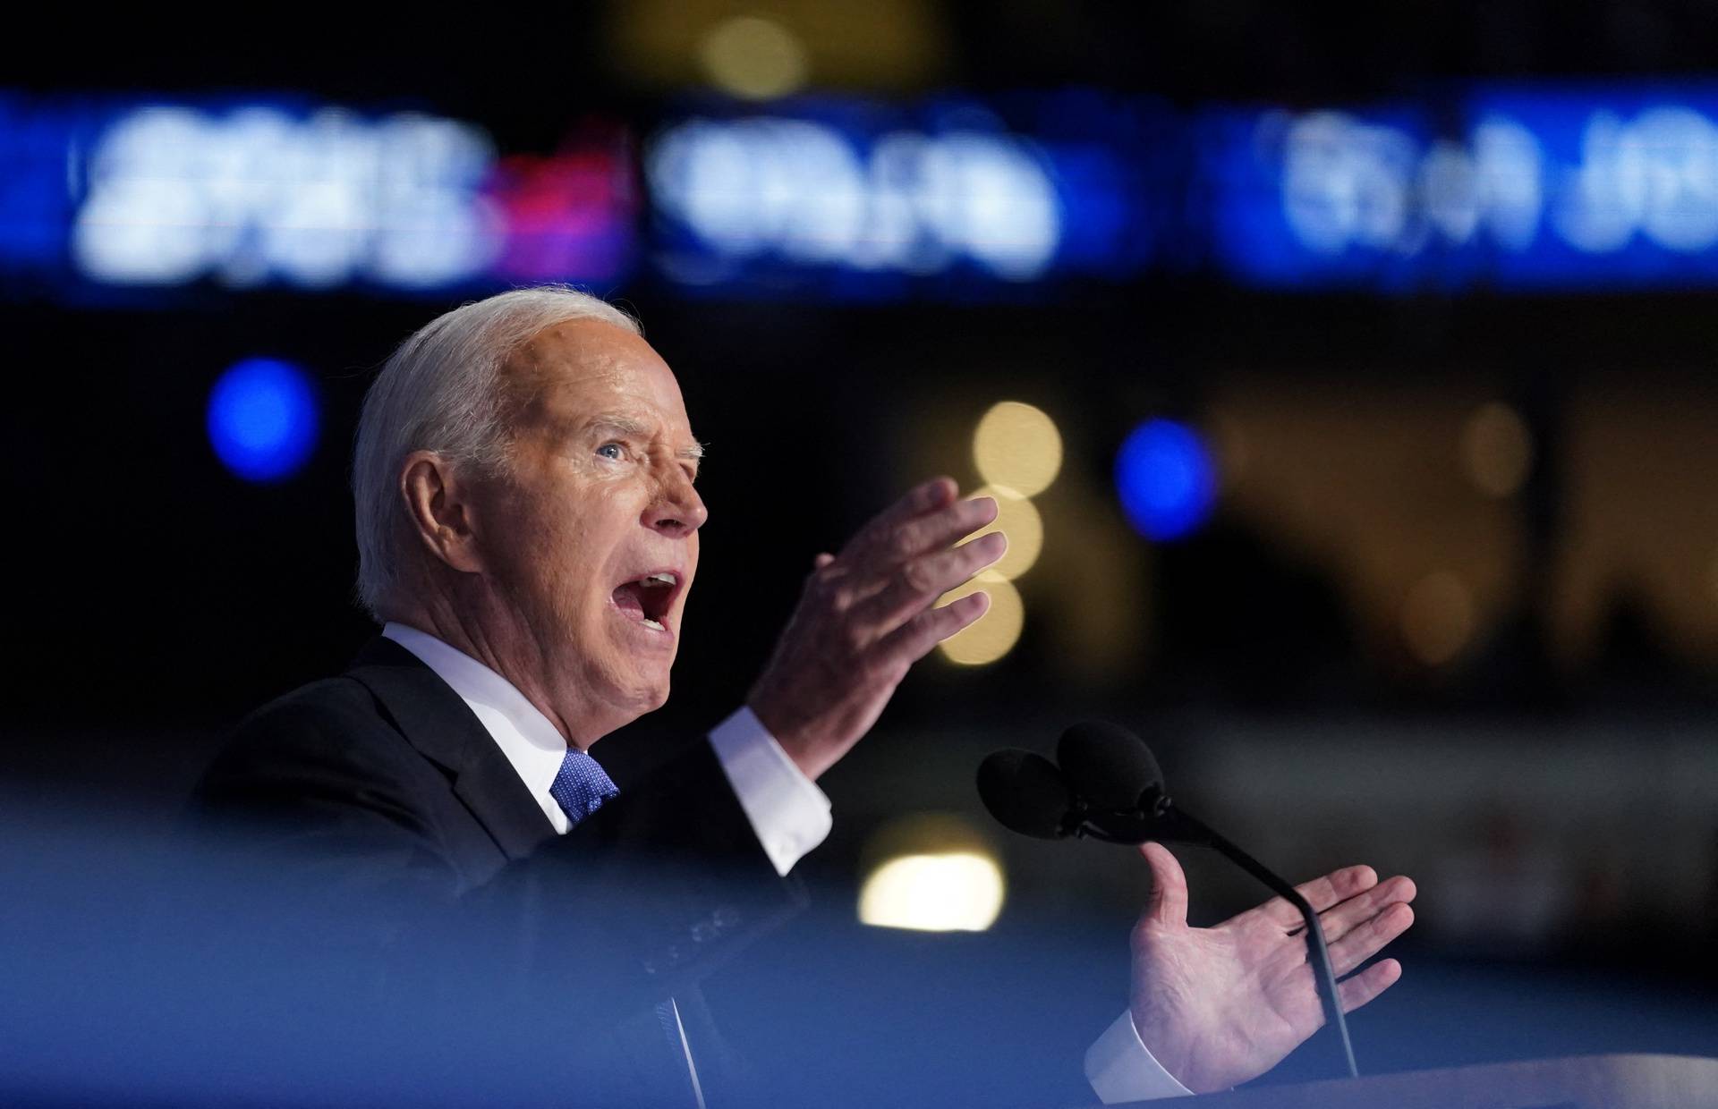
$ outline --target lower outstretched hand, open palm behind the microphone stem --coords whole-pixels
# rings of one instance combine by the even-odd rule
[[[1151,903],[1132,932],[1129,1009],[1141,1042],[1194,1094],[1225,1090],[1276,1066],[1325,1023],[1307,961],[1304,922],[1282,898],[1209,929],[1187,925],[1187,876],[1160,843],[1141,848]],[[1304,886],[1338,979],[1414,924],[1414,882],[1347,867]],[[1380,960],[1337,985],[1349,1013],[1402,977]]]

